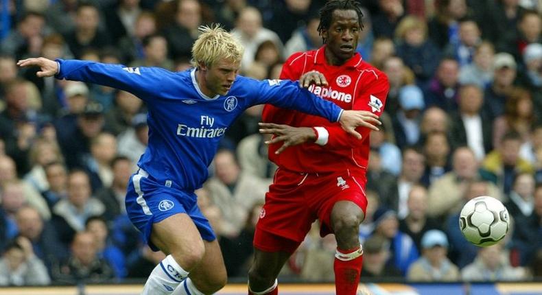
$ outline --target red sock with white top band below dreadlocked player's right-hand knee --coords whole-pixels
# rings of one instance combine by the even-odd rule
[[[349,255],[360,250],[360,247],[337,251]],[[333,269],[335,270],[335,292],[337,295],[355,295],[357,285],[360,283],[360,273],[362,272],[363,255],[351,260],[341,260],[335,257]]]

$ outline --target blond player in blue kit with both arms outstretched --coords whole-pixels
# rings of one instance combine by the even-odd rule
[[[82,60],[30,58],[37,75],[102,84],[128,91],[148,106],[149,143],[130,178],[126,209],[153,250],[167,257],[142,294],[213,294],[226,269],[213,229],[196,203],[220,139],[235,118],[256,104],[274,104],[339,121],[352,134],[379,123],[372,114],[342,110],[296,82],[237,75],[243,48],[224,29],[202,27],[192,47],[193,69],[172,73]]]

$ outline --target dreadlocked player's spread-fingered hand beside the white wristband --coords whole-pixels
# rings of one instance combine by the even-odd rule
[[[308,127],[292,127],[274,123],[259,123],[259,128],[259,132],[262,134],[274,135],[270,141],[266,141],[267,145],[279,143],[281,141],[284,142],[283,145],[279,147],[279,150],[276,150],[275,154],[280,154],[286,149],[286,147],[316,140],[316,133],[312,128]]]

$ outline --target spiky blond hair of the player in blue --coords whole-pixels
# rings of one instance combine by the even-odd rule
[[[220,25],[198,28],[201,35],[192,46],[191,64],[199,68],[202,65],[212,66],[219,60],[241,62],[243,58],[243,45],[232,34],[222,29]]]

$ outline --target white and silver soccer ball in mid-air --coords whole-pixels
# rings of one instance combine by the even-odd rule
[[[497,244],[508,233],[508,210],[499,200],[476,197],[464,205],[459,215],[459,228],[465,239],[476,246]]]

